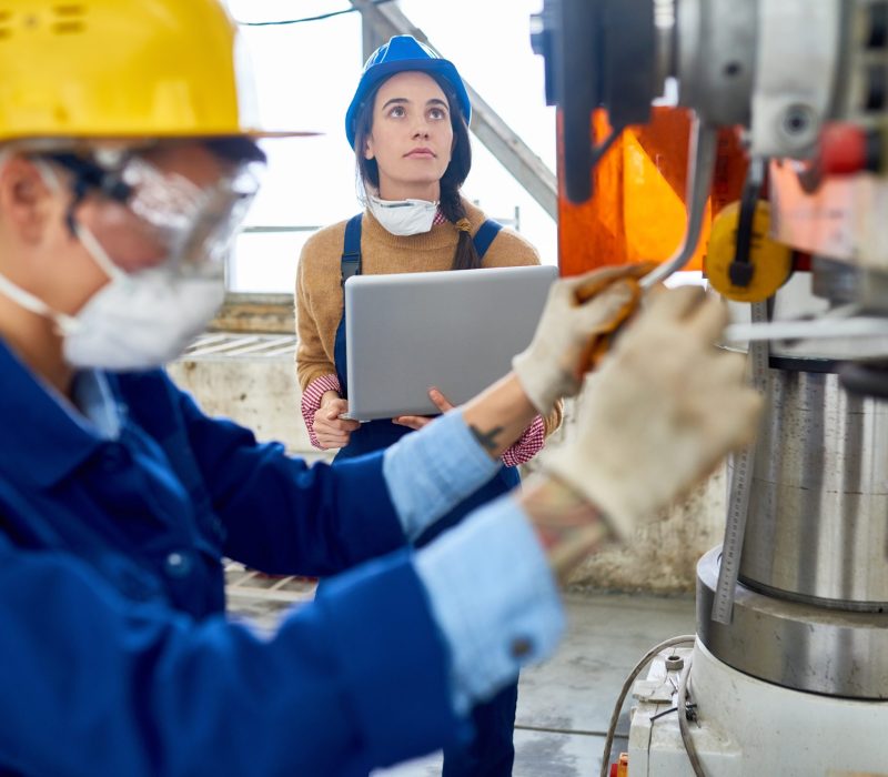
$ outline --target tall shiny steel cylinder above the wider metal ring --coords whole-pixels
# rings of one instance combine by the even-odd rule
[[[888,404],[831,373],[770,371],[740,582],[846,609],[888,608]]]

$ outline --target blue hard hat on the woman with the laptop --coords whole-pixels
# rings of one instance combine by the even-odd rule
[[[345,137],[349,139],[349,145],[354,148],[354,122],[364,100],[390,75],[405,70],[420,70],[443,78],[456,92],[456,100],[466,124],[472,119],[472,103],[453,62],[442,59],[413,36],[395,36],[376,49],[364,63],[361,81],[357,82],[352,102],[345,111]]]

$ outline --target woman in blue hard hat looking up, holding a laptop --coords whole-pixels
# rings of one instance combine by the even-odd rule
[[[300,258],[296,284],[302,414],[312,443],[340,448],[336,458],[387,447],[428,418],[402,416],[359,424],[347,410],[342,283],[351,274],[466,270],[538,264],[535,249],[460,194],[472,165],[472,105],[453,63],[410,36],[396,36],[367,60],[345,114],[363,213],[321,230]],[[433,390],[446,411],[446,397]],[[441,521],[434,534],[518,484],[517,465],[532,458],[561,423],[561,406],[537,416],[503,456],[493,482]],[[433,535],[421,538],[428,542]],[[445,777],[509,775],[517,685],[474,713],[475,738],[444,754]]]

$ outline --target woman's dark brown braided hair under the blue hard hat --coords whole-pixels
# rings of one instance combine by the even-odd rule
[[[465,123],[462,111],[460,111],[460,103],[453,88],[444,79],[436,78],[433,73],[428,73],[428,75],[435,79],[438,87],[441,87],[450,107],[454,144],[451,163],[444,171],[444,175],[441,176],[441,211],[447,221],[455,224],[461,219],[466,218],[463,201],[460,198],[460,186],[463,185],[463,181],[465,181],[468,171],[472,169],[472,144],[468,140],[468,127]],[[367,184],[376,190],[380,188],[379,165],[375,159],[366,159],[364,157],[364,147],[373,130],[373,107],[376,102],[376,92],[379,92],[383,83],[385,81],[379,83],[367,95],[355,117],[354,155],[357,165],[357,178],[364,191],[366,191]],[[475,251],[472,235],[461,230],[451,269],[474,270],[480,266],[481,259],[477,251]]]

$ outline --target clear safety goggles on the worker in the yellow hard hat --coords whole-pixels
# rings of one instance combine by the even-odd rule
[[[159,169],[138,154],[102,162],[71,153],[48,159],[73,175],[74,210],[87,193],[98,191],[138,219],[138,229],[155,242],[178,274],[218,275],[259,189],[258,164],[226,163],[212,184],[199,186],[184,175]]]

